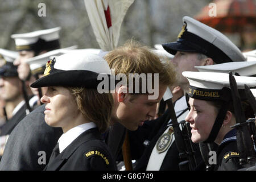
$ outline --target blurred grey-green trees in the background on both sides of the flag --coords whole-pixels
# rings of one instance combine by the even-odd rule
[[[84,0],[0,0],[0,48],[15,49],[11,34],[62,27],[61,47],[99,48],[90,26]],[[39,3],[46,17],[38,16]],[[123,20],[119,46],[127,39],[154,47],[177,39],[185,15],[194,17],[210,0],[135,0]],[[234,43],[236,39],[234,39]],[[238,45],[239,46],[239,45]]]

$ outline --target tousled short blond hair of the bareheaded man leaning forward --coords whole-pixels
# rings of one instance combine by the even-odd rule
[[[170,61],[161,62],[151,48],[142,46],[135,40],[128,40],[123,46],[110,51],[104,58],[110,69],[115,70],[115,75],[118,73],[126,75],[127,85],[129,73],[152,73],[152,75],[158,73],[159,85],[171,86],[176,81],[175,69]]]

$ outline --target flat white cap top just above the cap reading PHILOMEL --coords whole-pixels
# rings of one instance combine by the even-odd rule
[[[200,72],[229,73],[231,71],[233,75],[253,76],[256,75],[256,60],[195,66],[195,68]]]

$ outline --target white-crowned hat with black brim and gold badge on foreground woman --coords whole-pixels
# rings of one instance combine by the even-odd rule
[[[100,74],[110,76],[108,63],[92,53],[71,52],[48,61],[44,76],[36,80],[31,87],[42,86],[83,86],[97,89]]]

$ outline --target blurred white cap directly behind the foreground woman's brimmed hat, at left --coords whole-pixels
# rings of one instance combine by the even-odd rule
[[[36,73],[42,73],[45,69],[47,61],[50,60],[52,56],[60,56],[64,54],[64,51],[72,50],[76,48],[77,46],[55,49],[53,51],[43,53],[42,55],[31,57],[27,59],[26,62],[30,65],[30,70],[32,72],[32,75]]]

